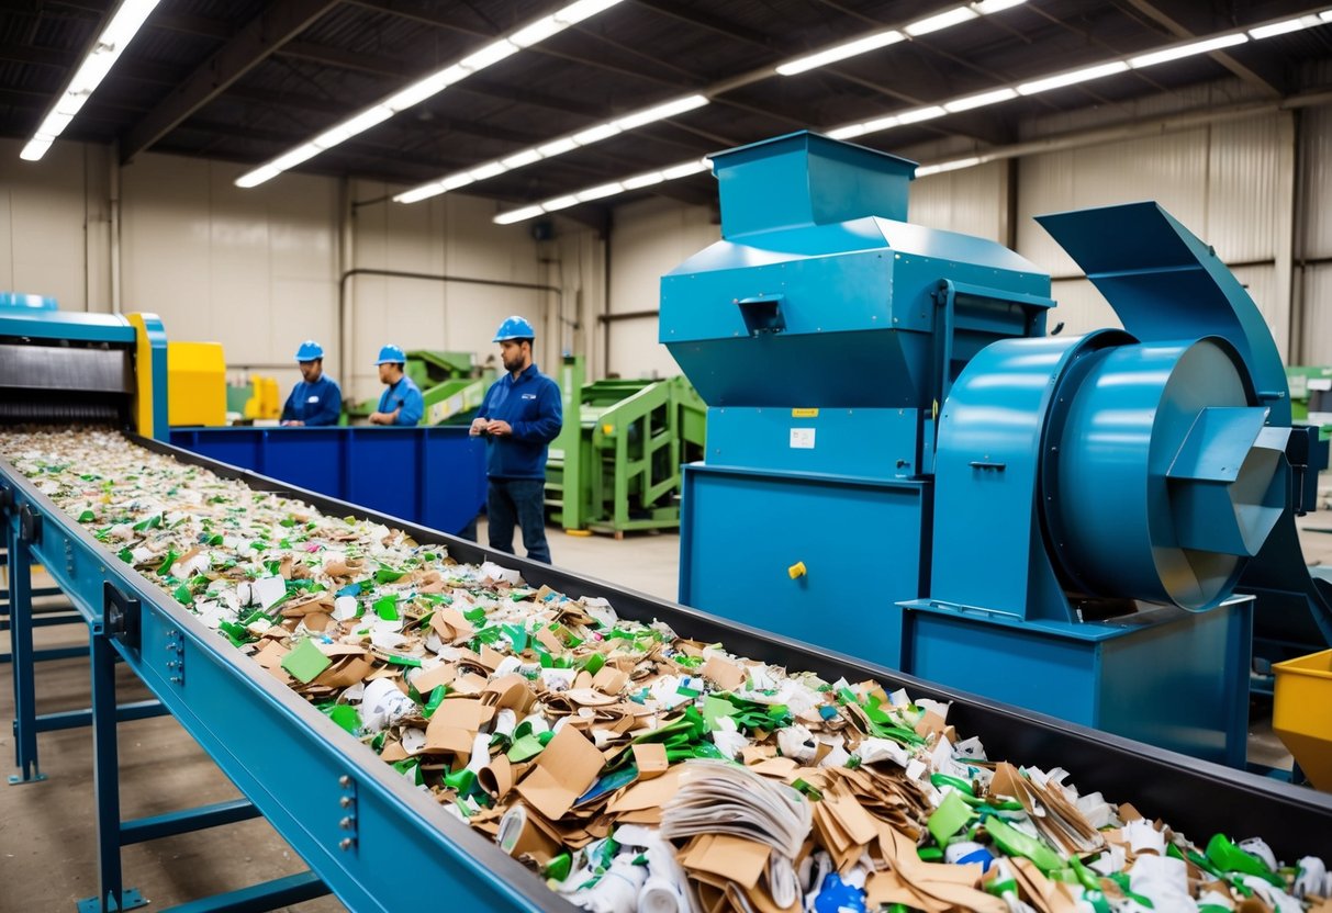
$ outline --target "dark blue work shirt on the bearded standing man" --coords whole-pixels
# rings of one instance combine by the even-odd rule
[[[509,422],[511,435],[486,438],[486,475],[492,479],[545,479],[546,447],[559,435],[563,406],[559,387],[529,365],[514,379],[505,373],[486,390],[478,418]]]

